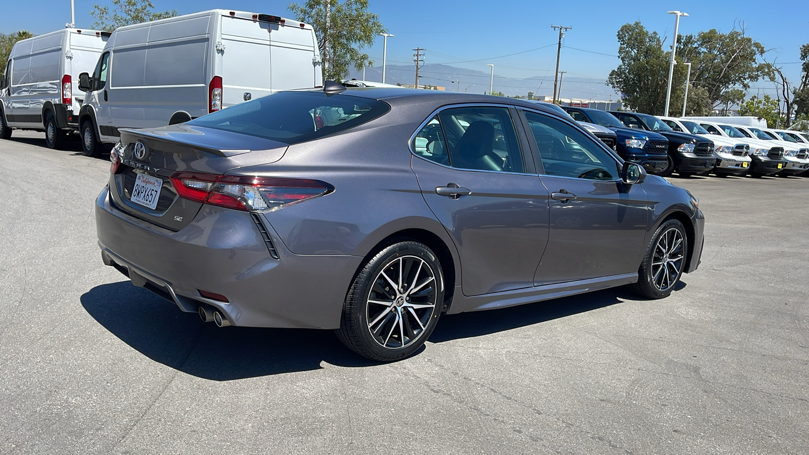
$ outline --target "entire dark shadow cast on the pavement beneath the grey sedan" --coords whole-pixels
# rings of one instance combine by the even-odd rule
[[[683,287],[680,282],[676,290]],[[614,287],[493,311],[444,315],[429,341],[493,334],[625,300],[642,298],[627,287]],[[379,364],[349,351],[331,330],[219,328],[129,281],[96,286],[83,294],[81,302],[95,321],[142,355],[212,381],[317,370],[324,368],[323,362],[348,368]]]

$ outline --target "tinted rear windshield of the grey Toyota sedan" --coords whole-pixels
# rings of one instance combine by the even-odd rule
[[[358,96],[279,91],[187,121],[185,125],[296,144],[349,130],[389,110],[390,106],[382,101]]]

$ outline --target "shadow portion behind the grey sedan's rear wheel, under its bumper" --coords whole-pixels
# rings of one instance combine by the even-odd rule
[[[349,351],[331,330],[219,328],[129,281],[96,286],[81,301],[91,317],[129,347],[212,381],[317,370],[321,362],[378,364]]]

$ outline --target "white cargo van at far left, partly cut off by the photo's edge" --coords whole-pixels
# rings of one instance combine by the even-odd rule
[[[110,34],[65,28],[19,40],[0,78],[0,138],[11,130],[45,131],[48,147],[78,130],[78,74],[92,70]]]

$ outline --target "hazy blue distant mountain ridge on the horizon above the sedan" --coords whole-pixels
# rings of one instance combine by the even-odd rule
[[[422,66],[418,71],[419,84],[447,87],[447,90],[469,93],[483,93],[489,91],[489,78],[491,74],[485,71],[469,70],[450,65],[431,64]],[[566,76],[566,75],[565,75]],[[351,78],[362,79],[362,70],[352,71]],[[369,81],[382,81],[382,66],[366,68],[366,79]],[[388,65],[385,69],[386,83],[400,83],[412,85],[416,80],[415,66]],[[472,86],[472,87],[470,87]],[[553,96],[553,77],[532,76],[526,79],[503,78],[494,75],[494,91],[502,91],[506,96],[527,96],[533,91],[536,96]],[[561,81],[561,98],[577,98],[581,100],[620,100],[621,96],[606,84],[604,79],[587,79],[563,77]]]

